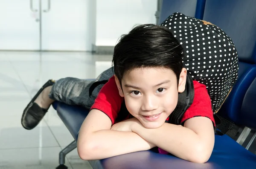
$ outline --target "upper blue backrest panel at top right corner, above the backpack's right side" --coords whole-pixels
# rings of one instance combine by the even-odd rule
[[[220,27],[236,45],[239,59],[255,63],[255,0],[206,0],[203,20]]]

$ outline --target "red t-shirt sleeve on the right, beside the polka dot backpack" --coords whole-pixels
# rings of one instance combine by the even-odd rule
[[[215,120],[213,118],[212,112],[212,103],[208,95],[206,86],[197,81],[193,81],[195,96],[192,105],[184,113],[181,123],[184,123],[186,120],[192,117],[208,117],[212,120],[213,125],[215,126]]]

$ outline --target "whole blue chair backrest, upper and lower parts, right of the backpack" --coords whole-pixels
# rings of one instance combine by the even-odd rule
[[[238,80],[218,113],[251,128],[256,128],[255,6],[255,0],[206,0],[203,17],[231,37],[239,56]]]

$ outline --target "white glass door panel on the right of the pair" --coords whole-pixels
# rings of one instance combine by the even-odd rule
[[[92,51],[95,0],[42,0],[43,51]]]

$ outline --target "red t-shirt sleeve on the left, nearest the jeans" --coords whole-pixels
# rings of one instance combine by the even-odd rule
[[[91,109],[98,109],[104,112],[114,124],[117,114],[121,109],[123,97],[119,95],[115,77],[111,77],[99,91],[98,96]]]

